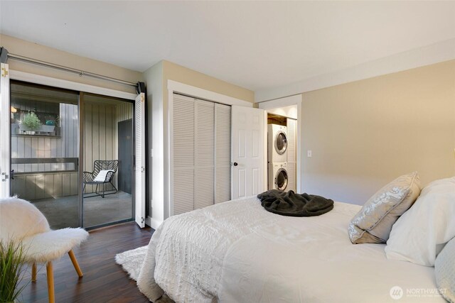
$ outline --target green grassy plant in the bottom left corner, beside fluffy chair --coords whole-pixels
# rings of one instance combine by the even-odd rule
[[[0,302],[16,302],[26,285],[23,279],[25,254],[21,243],[0,241]]]

